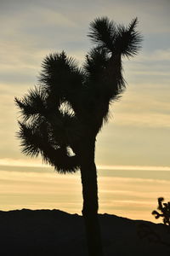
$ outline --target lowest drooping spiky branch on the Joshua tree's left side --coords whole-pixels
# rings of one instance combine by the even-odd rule
[[[18,137],[21,139],[22,152],[31,157],[42,155],[42,159],[54,166],[58,172],[76,172],[79,167],[77,155],[71,155],[70,150],[59,147],[50,140],[46,125],[35,127],[20,123]]]

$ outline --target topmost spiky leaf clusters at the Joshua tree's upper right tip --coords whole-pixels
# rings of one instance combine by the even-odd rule
[[[98,18],[90,24],[88,36],[95,44],[111,51],[113,55],[136,55],[140,49],[142,37],[135,31],[138,19],[131,21],[129,26],[118,26],[107,17]]]

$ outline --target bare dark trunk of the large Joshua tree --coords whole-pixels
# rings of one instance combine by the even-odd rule
[[[98,183],[94,163],[95,138],[84,140],[81,147],[82,216],[84,218],[89,256],[102,256],[98,219]]]

